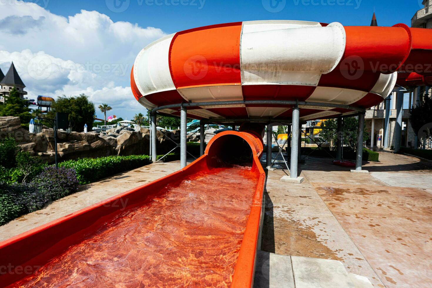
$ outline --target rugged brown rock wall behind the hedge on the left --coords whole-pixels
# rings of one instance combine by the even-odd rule
[[[39,155],[48,163],[54,162],[54,130],[44,127],[41,133],[29,133],[21,127],[19,117],[0,117],[0,139],[15,138],[18,145],[32,155]],[[157,131],[157,153],[165,154],[179,142],[178,131]],[[172,142],[170,139],[175,142]],[[104,133],[66,133],[58,130],[57,151],[59,161],[102,157],[108,155],[149,155],[149,129],[135,132],[130,127],[116,127]]]

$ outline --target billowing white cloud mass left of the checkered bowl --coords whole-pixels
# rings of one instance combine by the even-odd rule
[[[15,0],[0,8],[0,67],[6,73],[15,63],[29,97],[85,93],[120,117],[143,111],[130,91],[130,70],[138,52],[165,35],[161,29],[113,22],[97,11],[66,18]]]

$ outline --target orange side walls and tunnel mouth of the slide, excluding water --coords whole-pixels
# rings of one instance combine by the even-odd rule
[[[157,196],[168,184],[187,179],[200,171],[210,172],[229,162],[230,157],[242,155],[245,151],[249,153],[250,171],[255,177],[256,189],[231,287],[251,287],[256,251],[260,242],[261,221],[264,217],[262,200],[265,181],[265,173],[259,161],[263,152],[263,142],[255,131],[219,133],[211,139],[204,155],[187,167],[1,242],[0,286],[8,286],[24,279],[66,251],[68,247],[81,243],[86,235],[121,213],[118,203],[127,203],[125,210],[142,206]]]

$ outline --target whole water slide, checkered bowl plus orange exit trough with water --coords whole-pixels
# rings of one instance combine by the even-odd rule
[[[146,46],[131,88],[148,109],[178,116],[187,103],[187,117],[222,125],[355,115],[397,81],[430,83],[431,39],[404,24],[211,25]],[[265,180],[257,127],[219,133],[187,167],[1,242],[1,285],[251,287]]]

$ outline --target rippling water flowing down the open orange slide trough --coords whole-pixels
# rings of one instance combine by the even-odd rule
[[[168,185],[13,286],[229,287],[257,184],[249,169]]]

